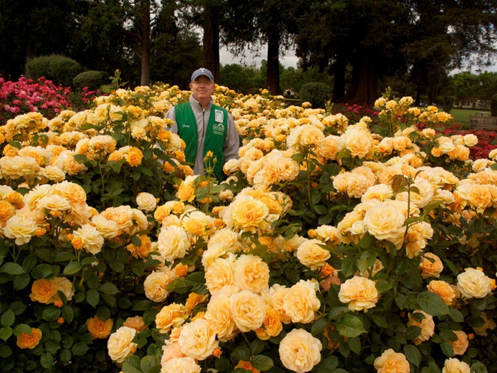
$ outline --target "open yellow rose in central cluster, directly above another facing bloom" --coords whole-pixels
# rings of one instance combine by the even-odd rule
[[[269,284],[269,267],[260,256],[242,255],[233,263],[234,284],[260,293]]]

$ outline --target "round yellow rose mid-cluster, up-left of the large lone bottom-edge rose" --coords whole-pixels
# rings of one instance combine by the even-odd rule
[[[262,326],[266,318],[264,300],[250,290],[242,290],[230,297],[231,316],[241,332],[250,332]]]

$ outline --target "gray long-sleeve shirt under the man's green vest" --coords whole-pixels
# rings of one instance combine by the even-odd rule
[[[195,158],[195,167],[193,169],[193,173],[195,173],[195,175],[203,175],[205,132],[209,117],[211,115],[212,98],[207,108],[203,109],[202,105],[193,97],[193,95],[191,95],[190,105],[192,107],[193,114],[195,114],[195,119],[197,120],[197,131],[198,131],[198,149],[197,149],[197,157]],[[173,119],[175,124],[173,124],[173,126],[171,126],[169,130],[172,133],[177,133],[176,113],[174,106],[170,108],[169,111],[166,113],[166,119]],[[186,146],[188,146],[188,144],[186,144]],[[240,139],[238,138],[235,121],[233,120],[231,114],[228,113],[228,129],[226,130],[226,140],[224,141],[224,149],[223,149],[224,162],[231,159],[237,159],[239,147],[240,147]]]

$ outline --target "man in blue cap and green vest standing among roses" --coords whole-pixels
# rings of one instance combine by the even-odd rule
[[[212,151],[217,158],[214,175],[222,181],[224,163],[238,157],[240,140],[231,114],[213,104],[211,95],[214,88],[211,71],[206,68],[195,70],[191,76],[190,100],[170,108],[166,118],[175,122],[170,131],[177,133],[186,143],[186,162],[195,164],[193,173],[205,173],[208,165],[204,164],[204,157]]]

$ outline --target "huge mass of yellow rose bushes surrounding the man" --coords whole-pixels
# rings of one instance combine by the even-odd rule
[[[218,86],[242,146],[217,183],[163,119],[189,95],[0,126],[3,372],[491,367],[496,154],[410,97],[349,122]]]

